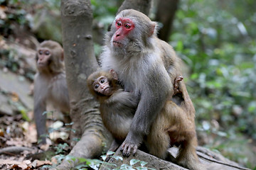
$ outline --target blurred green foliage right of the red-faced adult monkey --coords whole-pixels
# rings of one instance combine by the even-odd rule
[[[232,4],[232,6],[230,6]],[[241,7],[242,4],[246,4]],[[190,67],[197,120],[256,139],[255,1],[183,0],[171,42]],[[236,7],[238,7],[236,9]],[[247,17],[244,13],[247,13]],[[254,17],[253,17],[254,16]]]

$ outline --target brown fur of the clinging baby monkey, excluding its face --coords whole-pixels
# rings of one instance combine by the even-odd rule
[[[93,82],[100,76],[107,77],[112,95],[102,96],[92,89]],[[100,114],[107,130],[117,143],[123,141],[129,131],[129,125],[137,108],[137,100],[132,93],[125,92],[110,72],[94,72],[87,79],[87,86],[93,96],[100,101]],[[116,146],[115,146],[116,147]]]

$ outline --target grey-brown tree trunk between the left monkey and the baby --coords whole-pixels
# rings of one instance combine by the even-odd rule
[[[75,130],[70,139],[81,138],[76,144],[72,142],[75,146],[69,155],[84,158],[99,157],[111,139],[102,125],[99,104],[86,84],[87,77],[99,68],[94,55],[90,6],[89,0],[62,0],[60,7],[70,117]],[[63,165],[69,169],[68,162],[60,166]]]

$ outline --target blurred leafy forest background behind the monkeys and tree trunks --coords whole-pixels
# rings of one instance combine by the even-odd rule
[[[98,56],[102,35],[122,1],[91,2]],[[35,49],[36,41],[61,43],[60,0],[0,3],[0,68],[32,82],[35,69],[24,66],[26,56],[18,47],[4,45],[14,42]],[[199,145],[252,169],[256,162],[255,8],[254,0],[180,0],[168,39],[184,61],[188,93],[196,108]],[[152,20],[156,10],[155,6],[151,9]],[[7,92],[0,89],[1,94]],[[31,110],[23,103],[15,98],[9,103],[17,108],[16,116],[22,115],[24,122],[31,120]],[[3,123],[0,128],[2,137],[8,135],[8,125]]]

